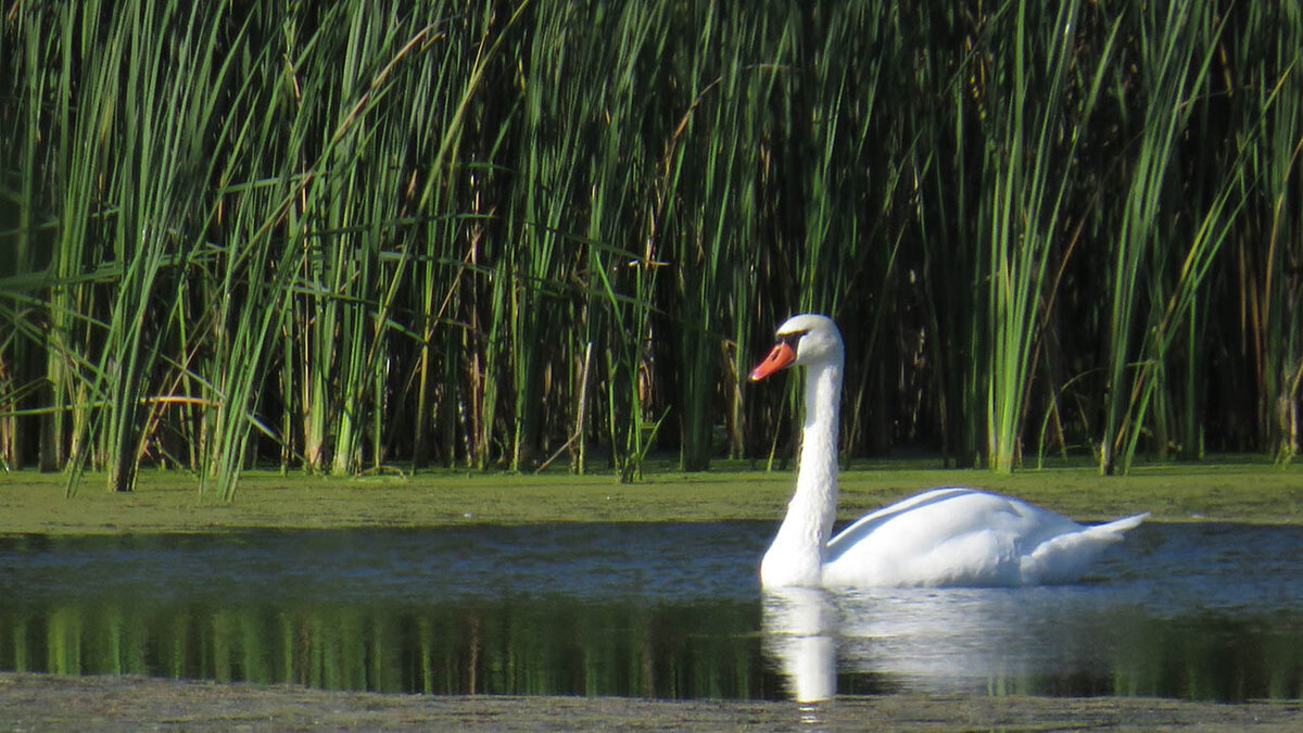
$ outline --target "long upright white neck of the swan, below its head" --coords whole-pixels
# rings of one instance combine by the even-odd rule
[[[812,364],[805,374],[805,425],[796,494],[761,562],[762,586],[818,586],[837,516],[837,434],[842,360]]]

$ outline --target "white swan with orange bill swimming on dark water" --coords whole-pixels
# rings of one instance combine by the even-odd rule
[[[778,343],[751,372],[760,381],[807,368],[796,493],[760,565],[765,588],[1068,583],[1149,515],[1088,527],[1016,498],[946,488],[873,511],[833,537],[843,363],[837,325],[803,314],[778,327]]]

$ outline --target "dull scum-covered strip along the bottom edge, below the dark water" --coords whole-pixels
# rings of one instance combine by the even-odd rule
[[[0,673],[0,726],[7,729],[185,730],[435,729],[799,730],[795,703],[636,698],[431,696],[341,693],[142,677]],[[945,730],[1016,728],[1300,730],[1303,706],[1217,704],[1153,698],[885,695],[839,698],[816,728]]]

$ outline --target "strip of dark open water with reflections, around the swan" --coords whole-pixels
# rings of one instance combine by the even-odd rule
[[[762,599],[773,530],[0,537],[0,669],[783,698],[826,664],[843,694],[1303,696],[1303,527],[1145,524],[1074,586]]]

